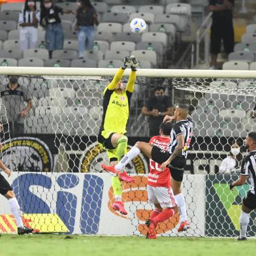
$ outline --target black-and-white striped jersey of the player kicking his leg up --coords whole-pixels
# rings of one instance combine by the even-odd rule
[[[187,150],[189,149],[191,138],[193,136],[193,123],[190,120],[177,121],[170,131],[170,145],[168,146],[168,152],[172,154],[174,149],[178,145],[176,137],[178,135],[184,135],[184,149],[182,150],[182,156],[187,158]]]

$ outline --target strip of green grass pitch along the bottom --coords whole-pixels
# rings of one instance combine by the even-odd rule
[[[255,255],[256,240],[76,236],[58,234],[3,235],[1,256],[182,256]]]

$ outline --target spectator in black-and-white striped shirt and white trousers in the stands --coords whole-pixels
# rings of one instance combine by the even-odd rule
[[[20,11],[20,50],[37,48],[37,27],[40,21],[40,10],[35,0],[25,0],[24,9]]]

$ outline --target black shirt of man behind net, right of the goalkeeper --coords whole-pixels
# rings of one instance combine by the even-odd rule
[[[167,108],[170,108],[172,104],[170,104],[169,98],[167,96],[163,96],[163,99],[157,99],[154,96],[149,97],[145,104],[146,108],[149,111],[153,109],[157,109],[159,112],[166,112]],[[159,125],[163,121],[163,116],[149,117],[150,123],[154,123],[155,125]]]

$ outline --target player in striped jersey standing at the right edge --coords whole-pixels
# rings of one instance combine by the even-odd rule
[[[256,209],[256,133],[251,132],[246,136],[244,145],[248,150],[242,161],[241,172],[238,180],[232,182],[229,187],[232,190],[237,185],[243,185],[249,176],[250,189],[246,197],[242,201],[242,209],[240,214],[240,236],[238,241],[247,240],[246,232],[249,224],[249,213]]]

